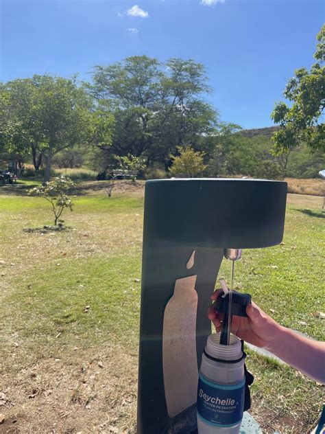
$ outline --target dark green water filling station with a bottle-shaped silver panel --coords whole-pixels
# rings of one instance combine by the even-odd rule
[[[286,197],[287,183],[278,181],[147,181],[139,434],[196,432],[198,367],[221,261],[279,244]]]

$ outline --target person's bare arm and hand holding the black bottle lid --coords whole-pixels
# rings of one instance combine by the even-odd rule
[[[216,300],[222,290],[211,296]],[[325,384],[325,342],[300,336],[282,327],[254,303],[246,308],[248,317],[232,317],[232,333],[257,347],[263,347],[313,380]],[[222,314],[210,306],[208,317],[219,332]]]

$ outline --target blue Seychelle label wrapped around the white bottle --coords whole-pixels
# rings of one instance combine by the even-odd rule
[[[236,425],[243,418],[245,378],[235,385],[219,385],[200,374],[197,413],[213,426]]]

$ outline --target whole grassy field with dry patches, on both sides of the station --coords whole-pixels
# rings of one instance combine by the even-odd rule
[[[0,189],[0,433],[135,433],[143,185],[108,198],[84,183],[80,193],[69,231],[27,233],[51,224],[47,203]],[[324,339],[313,315],[325,311],[322,199],[288,203],[284,242],[244,251],[235,286],[283,325]],[[229,271],[224,262],[221,275]],[[252,352],[248,369],[259,422],[307,433],[322,387]]]

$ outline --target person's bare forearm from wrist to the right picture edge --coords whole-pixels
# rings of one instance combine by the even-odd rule
[[[324,342],[313,341],[277,324],[268,350],[309,378],[325,384]]]

